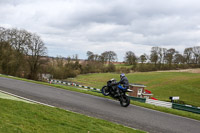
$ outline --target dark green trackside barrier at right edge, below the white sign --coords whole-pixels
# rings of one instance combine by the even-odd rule
[[[200,114],[200,108],[191,105],[173,103],[172,108]]]

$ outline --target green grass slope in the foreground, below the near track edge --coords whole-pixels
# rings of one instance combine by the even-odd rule
[[[140,133],[58,108],[0,98],[1,133]]]

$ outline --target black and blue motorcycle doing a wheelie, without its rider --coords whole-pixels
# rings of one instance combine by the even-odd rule
[[[126,95],[126,92],[132,92],[132,90],[120,88],[122,88],[121,85],[118,85],[115,79],[110,79],[107,85],[102,87],[101,92],[104,96],[111,96],[119,100],[122,107],[127,107],[130,104],[130,98]],[[117,89],[119,89],[119,94]]]

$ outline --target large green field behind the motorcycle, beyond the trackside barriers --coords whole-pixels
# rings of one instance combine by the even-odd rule
[[[146,85],[153,96],[159,100],[169,101],[170,96],[180,96],[186,104],[200,106],[200,74],[186,72],[143,72],[126,74],[130,83]],[[115,78],[119,81],[119,74],[96,73],[79,75],[71,81],[83,85],[102,88],[106,82]]]

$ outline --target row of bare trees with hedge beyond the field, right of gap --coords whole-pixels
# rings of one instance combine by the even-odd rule
[[[200,67],[200,46],[188,47],[183,54],[174,48],[152,47],[150,55],[137,57],[128,51],[125,62],[133,65],[135,71],[170,70]]]

